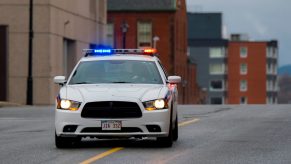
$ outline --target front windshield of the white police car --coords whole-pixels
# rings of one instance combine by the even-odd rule
[[[162,84],[153,61],[99,60],[81,62],[69,84],[134,83]]]

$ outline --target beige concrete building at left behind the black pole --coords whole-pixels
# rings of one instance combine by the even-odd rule
[[[67,75],[82,49],[104,44],[106,0],[34,0],[33,104],[53,104],[56,75]],[[29,0],[0,0],[0,101],[25,104]]]

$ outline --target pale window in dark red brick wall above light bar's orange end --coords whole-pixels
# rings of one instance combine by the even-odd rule
[[[137,47],[152,47],[152,23],[137,23]]]

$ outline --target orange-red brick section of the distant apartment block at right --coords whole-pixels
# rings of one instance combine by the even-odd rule
[[[277,42],[228,43],[228,104],[277,103]]]

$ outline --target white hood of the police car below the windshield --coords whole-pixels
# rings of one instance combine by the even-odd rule
[[[61,89],[61,97],[80,102],[138,100],[144,102],[164,98],[166,89],[164,85],[150,84],[72,85]]]

